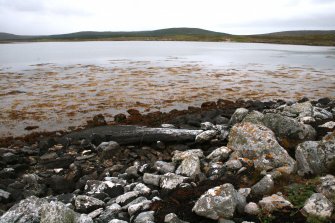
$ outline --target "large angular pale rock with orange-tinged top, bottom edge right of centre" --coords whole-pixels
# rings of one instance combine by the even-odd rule
[[[231,184],[209,189],[197,200],[192,211],[213,220],[232,218],[237,206],[236,193]]]

